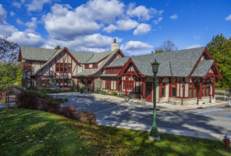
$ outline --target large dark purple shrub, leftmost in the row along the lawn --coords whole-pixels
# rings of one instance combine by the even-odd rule
[[[21,91],[17,94],[16,106],[18,108],[37,110],[37,96],[32,92]]]

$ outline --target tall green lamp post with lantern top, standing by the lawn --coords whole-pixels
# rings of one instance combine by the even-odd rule
[[[156,74],[158,73],[158,68],[160,63],[155,62],[151,63],[152,65],[152,72],[154,73],[154,100],[153,100],[153,123],[152,123],[152,129],[150,132],[150,135],[148,136],[148,139],[151,141],[160,141],[160,136],[158,133],[158,129],[156,126]]]

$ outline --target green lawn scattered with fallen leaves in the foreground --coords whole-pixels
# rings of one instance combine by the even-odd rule
[[[55,114],[27,109],[0,110],[0,155],[230,155],[221,141],[105,126],[87,126]]]

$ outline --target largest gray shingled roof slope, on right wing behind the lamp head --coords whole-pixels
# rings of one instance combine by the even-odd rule
[[[131,57],[141,74],[153,76],[150,62],[160,63],[157,76],[187,77],[195,66],[205,47],[163,52]],[[172,74],[170,70],[170,65]]]

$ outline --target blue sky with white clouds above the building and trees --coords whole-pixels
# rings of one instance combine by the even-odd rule
[[[116,38],[143,55],[171,39],[179,50],[231,37],[230,0],[4,0],[0,36],[21,46],[101,52]]]

